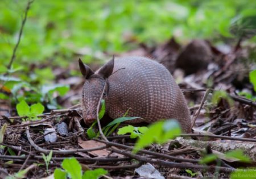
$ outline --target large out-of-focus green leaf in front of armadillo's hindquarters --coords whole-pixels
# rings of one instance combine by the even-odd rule
[[[133,152],[136,153],[143,147],[153,142],[162,144],[173,139],[181,133],[179,122],[175,119],[161,120],[148,127],[148,130],[138,139]]]

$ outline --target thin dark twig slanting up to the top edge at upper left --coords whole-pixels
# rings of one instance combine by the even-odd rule
[[[27,7],[26,7],[26,10],[25,10],[25,15],[24,15],[24,18],[22,20],[22,26],[20,27],[20,30],[19,30],[18,41],[17,41],[17,43],[16,43],[16,45],[15,45],[15,47],[13,49],[13,55],[11,56],[10,63],[7,66],[8,69],[11,68],[11,65],[14,62],[14,59],[15,59],[15,56],[16,56],[16,51],[17,51],[17,49],[19,47],[20,38],[22,36],[23,28],[24,28],[24,25],[25,25],[26,20],[27,20],[27,13],[28,13],[28,10],[30,10],[30,6],[31,6],[32,2],[34,2],[34,0],[30,0],[30,1],[27,2]]]

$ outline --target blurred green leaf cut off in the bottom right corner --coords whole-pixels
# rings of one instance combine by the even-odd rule
[[[256,168],[236,169],[231,173],[231,179],[255,179]]]

